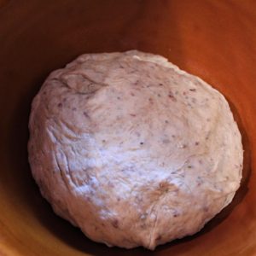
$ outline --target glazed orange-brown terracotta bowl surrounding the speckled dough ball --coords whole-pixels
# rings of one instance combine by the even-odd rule
[[[255,1],[0,0],[0,255],[256,255]],[[166,56],[230,102],[244,169],[232,204],[195,236],[108,248],[55,216],[27,162],[32,97],[82,53],[140,49]]]

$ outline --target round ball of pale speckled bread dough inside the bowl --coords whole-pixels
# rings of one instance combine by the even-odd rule
[[[160,55],[80,55],[46,79],[29,128],[42,195],[108,246],[195,234],[240,185],[241,134],[224,96]]]

